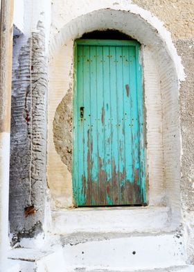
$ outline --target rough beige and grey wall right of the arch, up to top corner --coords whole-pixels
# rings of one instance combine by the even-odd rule
[[[194,262],[194,2],[193,0],[133,0],[150,10],[170,31],[177,53],[182,58],[186,80],[179,90],[182,131],[182,207],[188,231],[188,257]]]

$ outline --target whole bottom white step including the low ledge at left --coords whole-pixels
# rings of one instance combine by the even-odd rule
[[[55,244],[61,243],[63,247],[53,246],[51,250],[15,248],[10,250],[9,259],[19,263],[19,270],[14,272],[33,269],[37,272],[194,272],[194,266],[186,266],[183,237],[176,232],[141,236],[116,234],[115,237],[114,234],[93,235],[79,232],[60,236]]]

